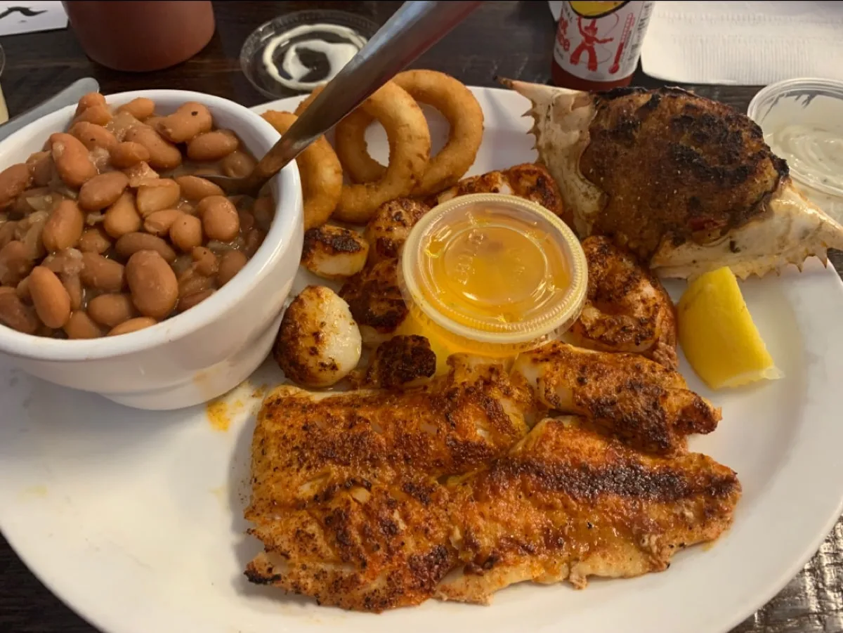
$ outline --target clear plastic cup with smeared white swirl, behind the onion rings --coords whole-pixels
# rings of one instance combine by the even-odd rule
[[[244,75],[249,79],[250,83],[255,86],[261,94],[265,94],[272,99],[279,99],[284,97],[291,97],[295,94],[302,94],[309,92],[304,89],[291,89],[282,83],[278,83],[271,74],[267,72],[266,66],[263,62],[264,50],[267,44],[276,38],[278,35],[288,33],[300,26],[314,25],[314,24],[331,24],[334,26],[345,27],[352,30],[357,35],[362,36],[368,40],[372,35],[378,32],[379,26],[372,20],[363,18],[354,13],[346,13],[344,11],[298,11],[296,13],[287,13],[279,16],[276,19],[271,19],[265,24],[261,24],[257,29],[252,31],[249,37],[243,43],[240,49],[240,68]],[[310,39],[313,35],[319,35],[318,32],[311,31],[307,35],[294,36],[285,43],[284,46],[279,46],[273,58],[277,60],[278,56],[283,55],[286,47],[294,44],[298,40]],[[320,35],[328,41],[344,41],[339,35],[324,33]],[[318,68],[314,70],[315,75],[318,75]],[[279,72],[282,72],[279,69]],[[325,70],[327,72],[327,70]],[[314,81],[319,81],[319,77],[314,77]]]

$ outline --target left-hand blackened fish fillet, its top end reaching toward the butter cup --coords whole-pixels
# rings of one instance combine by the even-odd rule
[[[283,386],[267,396],[245,512],[266,550],[247,567],[252,582],[346,609],[432,595],[454,564],[438,478],[506,454],[533,408],[500,365],[449,364],[448,376],[405,392]]]

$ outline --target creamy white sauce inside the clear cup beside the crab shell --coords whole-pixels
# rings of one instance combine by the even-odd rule
[[[800,180],[843,189],[843,127],[794,124],[764,140]]]

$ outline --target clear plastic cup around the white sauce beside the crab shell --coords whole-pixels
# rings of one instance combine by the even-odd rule
[[[774,153],[774,135],[782,127],[792,125],[835,128],[843,145],[843,82],[798,78],[771,83],[754,96],[747,115],[764,131],[765,142]],[[843,222],[843,173],[834,180],[813,172],[803,161],[790,160],[788,167],[804,195],[835,220]]]

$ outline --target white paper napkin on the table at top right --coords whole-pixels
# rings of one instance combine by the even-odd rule
[[[642,67],[683,83],[843,80],[843,2],[658,0]]]

